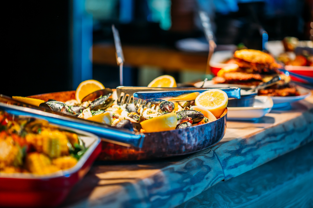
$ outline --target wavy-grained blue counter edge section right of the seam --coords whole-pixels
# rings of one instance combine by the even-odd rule
[[[236,138],[212,148],[218,156],[225,180],[313,140],[313,109],[285,123],[267,128],[249,138]]]

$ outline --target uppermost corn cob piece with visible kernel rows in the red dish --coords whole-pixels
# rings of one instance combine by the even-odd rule
[[[32,144],[38,152],[43,152],[51,158],[69,154],[67,137],[58,130],[44,129],[41,134],[28,134],[26,141]]]

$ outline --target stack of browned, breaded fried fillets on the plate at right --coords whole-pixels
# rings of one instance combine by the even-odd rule
[[[234,58],[227,63],[237,64],[238,68],[224,68],[213,78],[216,83],[256,86],[268,82],[279,73],[281,65],[267,53],[252,49],[235,51]],[[290,84],[290,78],[281,75],[282,80],[276,85],[259,90],[259,95],[295,96],[299,95]]]

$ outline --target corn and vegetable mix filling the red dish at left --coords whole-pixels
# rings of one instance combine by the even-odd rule
[[[86,150],[76,133],[0,111],[0,173],[54,173],[74,167]]]

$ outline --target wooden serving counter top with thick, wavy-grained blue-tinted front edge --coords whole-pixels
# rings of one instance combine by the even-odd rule
[[[313,92],[313,91],[312,91]],[[175,207],[313,140],[313,96],[257,122],[227,122],[224,138],[198,153],[139,162],[96,162],[66,207]]]

